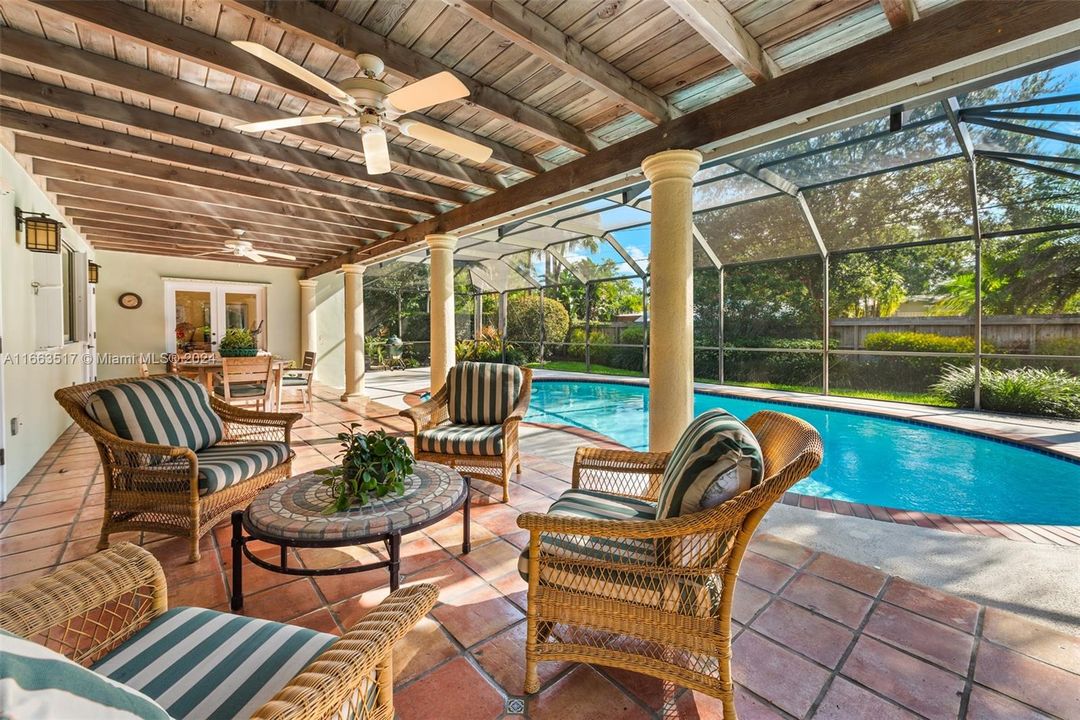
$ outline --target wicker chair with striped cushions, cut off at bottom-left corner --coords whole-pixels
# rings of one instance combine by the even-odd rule
[[[202,608],[167,610],[161,566],[147,551],[120,543],[0,595],[0,629],[17,636],[0,643],[6,655],[0,676],[14,674],[19,662],[51,663],[38,683],[8,685],[5,702],[16,706],[15,717],[19,704],[46,714],[37,717],[117,717],[119,689],[150,698],[136,695],[144,710],[153,710],[144,718],[391,720],[393,646],[437,595],[434,585],[402,588],[339,638]],[[93,674],[62,657],[50,661],[44,649],[17,638]],[[17,653],[26,647],[29,653]]]

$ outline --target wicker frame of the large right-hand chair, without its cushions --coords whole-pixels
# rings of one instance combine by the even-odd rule
[[[663,520],[525,513],[530,532],[525,692],[537,663],[577,661],[644,673],[718,697],[734,720],[731,602],[739,566],[766,511],[821,463],[818,432],[797,418],[754,413],[746,425],[765,461],[760,484],[710,510]],[[669,453],[580,448],[572,487],[656,502]],[[610,548],[639,547],[607,561]],[[548,548],[576,544],[600,559]]]

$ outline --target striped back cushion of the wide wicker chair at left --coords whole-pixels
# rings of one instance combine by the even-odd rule
[[[206,389],[179,376],[133,380],[96,390],[86,413],[124,439],[199,451],[225,437]]]

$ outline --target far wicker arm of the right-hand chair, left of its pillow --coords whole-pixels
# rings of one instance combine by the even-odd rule
[[[570,485],[584,490],[656,500],[670,452],[637,452],[580,447]]]

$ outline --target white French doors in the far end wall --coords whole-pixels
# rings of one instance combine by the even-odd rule
[[[260,329],[267,349],[266,287],[239,283],[165,281],[165,349],[216,352],[230,328]]]

